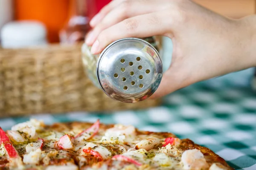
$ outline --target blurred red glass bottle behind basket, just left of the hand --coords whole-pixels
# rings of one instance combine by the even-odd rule
[[[95,0],[71,0],[69,18],[60,31],[61,43],[73,44],[84,41],[90,31],[89,21],[96,14]]]

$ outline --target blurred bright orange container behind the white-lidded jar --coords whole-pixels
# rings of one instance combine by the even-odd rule
[[[38,20],[47,27],[49,42],[59,42],[59,30],[68,17],[69,0],[15,0],[16,20]]]

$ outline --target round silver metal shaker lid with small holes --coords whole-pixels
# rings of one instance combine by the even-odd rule
[[[157,50],[138,38],[112,42],[99,56],[96,74],[103,91],[112,99],[134,103],[158,88],[163,65]]]

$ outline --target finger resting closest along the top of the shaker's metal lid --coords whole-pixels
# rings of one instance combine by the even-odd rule
[[[161,13],[131,17],[103,30],[91,48],[92,54],[99,54],[108,44],[125,37],[150,37],[162,35],[166,23]]]

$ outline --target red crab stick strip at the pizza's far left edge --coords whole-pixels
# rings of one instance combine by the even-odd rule
[[[9,158],[19,157],[17,150],[13,147],[12,142],[10,141],[9,137],[6,135],[5,131],[3,131],[1,127],[0,127],[0,136],[1,136],[1,141],[3,143],[3,146],[6,149],[6,152]]]

